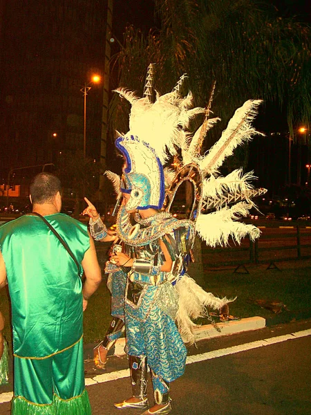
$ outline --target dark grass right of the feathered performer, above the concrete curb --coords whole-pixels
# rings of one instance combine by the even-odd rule
[[[234,273],[234,270],[205,270],[203,288],[220,297],[237,297],[230,304],[230,314],[241,318],[274,315],[256,304],[258,299],[282,302],[290,311],[309,308],[311,267],[301,268],[302,261],[297,261],[293,268],[286,262],[278,266],[281,271],[267,270],[267,265],[247,267],[249,274]]]

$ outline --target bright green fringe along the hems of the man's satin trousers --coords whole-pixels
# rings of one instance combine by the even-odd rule
[[[68,400],[54,395],[53,403],[47,405],[37,405],[16,396],[12,400],[12,415],[91,415],[91,405],[85,389],[80,396]]]

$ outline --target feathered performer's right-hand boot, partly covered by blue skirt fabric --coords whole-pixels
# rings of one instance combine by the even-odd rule
[[[145,411],[142,415],[165,415],[171,412],[171,398],[169,398],[169,382],[166,382],[162,376],[156,375],[151,369],[151,378],[153,385],[153,396],[155,405]]]

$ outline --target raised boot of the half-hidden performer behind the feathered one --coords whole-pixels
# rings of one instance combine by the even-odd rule
[[[104,340],[94,347],[94,363],[99,369],[104,369],[107,361],[107,353],[124,332],[124,321],[113,317]]]

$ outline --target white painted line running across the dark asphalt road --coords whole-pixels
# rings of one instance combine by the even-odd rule
[[[294,340],[296,338],[303,338],[308,335],[311,335],[311,329],[296,331],[295,333],[290,333],[290,334],[285,334],[285,335],[279,335],[278,337],[274,337],[274,338],[257,340],[256,342],[239,344],[238,346],[227,347],[227,349],[208,351],[207,353],[201,353],[201,354],[194,355],[194,356],[188,356],[186,364],[191,365],[191,363],[198,363],[204,360],[221,358],[223,356],[228,356],[234,353],[241,353],[241,351],[257,349],[258,347],[270,346],[270,344],[286,342],[287,340]],[[118,380],[118,379],[128,378],[128,377],[129,377],[129,369],[124,369],[120,371],[113,371],[110,374],[94,376],[94,378],[86,378],[85,384],[86,386],[97,385],[99,383],[110,382],[111,380]],[[13,392],[6,392],[4,394],[0,394],[0,404],[10,402],[10,400],[12,399],[12,396],[13,396]]]

